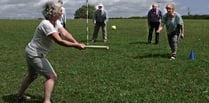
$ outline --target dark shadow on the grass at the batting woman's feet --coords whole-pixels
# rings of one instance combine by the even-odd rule
[[[43,98],[41,96],[28,96],[31,97],[31,100],[18,101],[16,98],[16,94],[4,95],[2,96],[2,100],[4,101],[4,103],[43,103]]]

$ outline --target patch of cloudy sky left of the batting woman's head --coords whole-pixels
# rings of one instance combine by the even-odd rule
[[[34,7],[36,2],[28,0],[1,0],[0,18],[32,18],[38,14],[39,7]],[[34,15],[35,14],[35,15]]]

